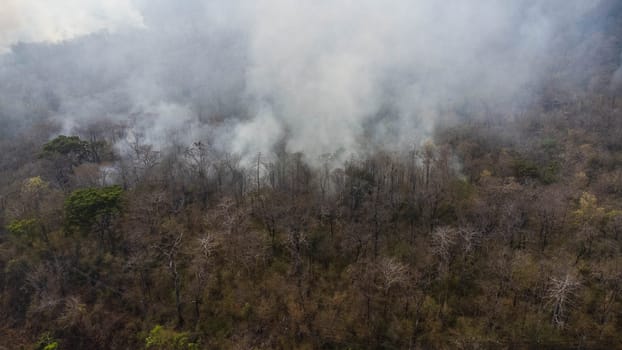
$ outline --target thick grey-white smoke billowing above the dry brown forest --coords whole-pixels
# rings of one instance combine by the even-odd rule
[[[42,43],[0,56],[0,119],[70,131],[132,116],[158,147],[176,134],[243,156],[280,142],[310,160],[398,150],[473,106],[503,114],[529,103],[577,45],[569,28],[598,4],[9,1],[0,46]]]

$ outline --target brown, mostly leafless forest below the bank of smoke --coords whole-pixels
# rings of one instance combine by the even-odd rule
[[[207,141],[119,158],[119,126],[38,126],[3,144],[2,339],[617,348],[621,107],[591,96],[316,167],[284,150],[243,167]]]

